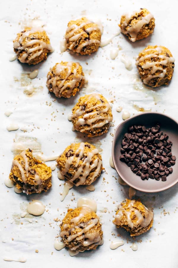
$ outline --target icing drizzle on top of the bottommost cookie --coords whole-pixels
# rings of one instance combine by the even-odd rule
[[[81,211],[80,211],[80,214],[78,216],[76,216],[75,218],[71,219],[71,223],[72,223],[71,228],[69,228],[67,230],[67,228],[69,227],[68,224],[65,224],[63,226],[64,230],[61,231],[61,233],[60,233],[61,237],[67,235],[68,236],[68,238],[67,238],[68,242],[70,242],[70,241],[72,241],[74,239],[79,241],[79,244],[77,246],[71,248],[72,251],[77,250],[77,248],[80,247],[81,245],[86,247],[86,250],[89,250],[89,249],[95,247],[96,245],[101,244],[101,236],[100,236],[99,231],[94,231],[92,233],[89,232],[89,230],[91,228],[93,228],[95,225],[98,224],[98,216],[96,218],[94,218],[94,219],[90,219],[88,222],[80,222],[80,220],[86,214],[91,213],[91,212],[92,211],[91,211],[91,209],[89,207],[83,206]],[[76,228],[81,228],[81,231],[79,231],[77,233],[74,233],[74,234],[71,234],[71,233],[74,232],[74,230]],[[83,240],[83,241],[81,241],[81,240]]]

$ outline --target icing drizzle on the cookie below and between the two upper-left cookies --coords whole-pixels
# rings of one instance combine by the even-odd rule
[[[74,67],[74,62],[72,61],[69,61],[66,65],[63,65],[61,63],[56,64],[54,73],[55,77],[52,77],[51,79],[47,80],[48,87],[50,84],[53,85],[53,92],[55,96],[60,98],[62,96],[62,92],[67,88],[66,97],[69,98],[70,93],[76,86],[76,83],[80,82],[82,78],[84,78],[82,74],[77,74],[77,70],[80,66],[79,63],[76,62],[75,65],[76,66]],[[72,68],[74,68],[73,71]],[[65,71],[66,69],[67,69],[66,77],[63,80],[61,80],[60,84],[57,84],[61,72]],[[72,80],[69,80],[69,82],[65,83],[64,85],[64,82],[66,82],[66,80],[69,78],[71,74],[72,74]]]

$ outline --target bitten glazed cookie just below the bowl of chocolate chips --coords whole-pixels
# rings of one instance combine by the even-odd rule
[[[131,236],[139,236],[152,227],[153,212],[146,208],[140,200],[126,199],[118,206],[113,223],[117,228],[126,229]]]

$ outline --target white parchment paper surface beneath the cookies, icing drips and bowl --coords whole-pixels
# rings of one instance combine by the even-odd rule
[[[114,208],[116,204],[128,197],[128,186],[120,186],[115,180],[117,173],[109,166],[109,156],[112,148],[112,135],[115,127],[122,121],[121,113],[116,112],[116,107],[123,106],[131,114],[138,113],[133,105],[138,105],[147,110],[165,112],[178,120],[177,105],[177,1],[22,1],[10,0],[0,3],[0,29],[1,29],[1,170],[0,170],[0,267],[177,267],[177,221],[178,211],[178,185],[158,194],[144,194],[136,192],[142,202],[148,207],[154,208],[154,226],[146,234],[136,238],[142,240],[138,244],[138,250],[132,251],[130,246],[133,239],[124,230],[116,230],[112,224]],[[112,36],[118,30],[117,24],[120,16],[140,7],[148,8],[155,16],[156,27],[154,34],[142,41],[131,43],[122,34],[115,37],[113,42],[97,53],[90,56],[75,56],[69,52],[60,53],[59,45],[65,33],[67,23],[72,18],[80,18],[86,15],[88,18],[100,19],[104,26],[103,39]],[[55,52],[49,54],[47,60],[37,66],[26,66],[17,60],[9,62],[13,53],[12,40],[21,30],[25,22],[39,16],[46,24],[45,29],[50,37]],[[21,24],[19,24],[21,22]],[[163,45],[170,49],[176,59],[174,76],[169,86],[158,88],[155,91],[142,88],[139,83],[135,57],[147,45]],[[118,57],[110,59],[110,50],[120,46]],[[132,71],[125,69],[120,61],[122,54],[133,62]],[[81,63],[88,86],[70,99],[56,99],[53,94],[48,94],[45,86],[46,75],[50,67],[56,62],[76,60]],[[86,64],[88,63],[88,65]],[[24,79],[24,72],[39,69],[36,79],[28,81]],[[24,82],[25,81],[25,82]],[[25,84],[24,84],[25,83]],[[31,83],[36,93],[29,97],[23,93],[25,87]],[[42,89],[39,89],[42,86]],[[136,88],[141,87],[138,91]],[[72,132],[72,124],[67,120],[67,115],[84,94],[99,92],[107,99],[114,98],[113,122],[106,135],[99,138],[87,139],[84,135]],[[46,105],[50,104],[51,105]],[[157,105],[155,105],[157,102]],[[12,115],[6,117],[4,112],[12,110]],[[52,114],[52,115],[51,115]],[[52,120],[53,119],[53,120]],[[8,132],[7,125],[11,122],[25,125],[28,132]],[[39,128],[38,128],[39,127]],[[4,185],[4,179],[9,175],[12,163],[11,147],[15,135],[36,137],[42,145],[45,155],[60,154],[65,147],[76,141],[86,141],[99,146],[103,166],[107,173],[94,183],[96,190],[89,192],[85,187],[73,188],[63,202],[60,202],[60,192],[63,182],[58,180],[57,170],[53,172],[53,187],[43,194],[29,195],[16,194],[13,188]],[[54,161],[55,163],[55,161]],[[51,163],[47,163],[51,164]],[[103,182],[105,178],[105,182]],[[169,178],[168,178],[169,179]],[[60,186],[61,185],[61,186]],[[72,193],[74,196],[72,196]],[[104,231],[104,244],[96,251],[79,253],[71,258],[66,249],[56,251],[53,247],[54,239],[59,234],[60,222],[53,219],[62,218],[67,207],[74,208],[76,200],[81,196],[87,196],[97,200],[98,215],[101,216]],[[72,202],[71,198],[75,198]],[[26,204],[32,199],[39,199],[46,205],[45,213],[39,217],[26,216],[20,218]],[[163,210],[169,214],[163,215]],[[61,215],[62,214],[62,215]],[[29,217],[32,223],[29,223]],[[37,221],[37,222],[36,222]],[[23,223],[23,225],[21,224]],[[116,239],[112,233],[121,234],[125,241],[122,247],[111,250],[109,244]],[[12,238],[14,240],[12,240]],[[128,243],[127,243],[127,239]],[[3,243],[2,241],[6,242]],[[39,253],[35,253],[35,250]],[[124,250],[124,251],[122,251]],[[53,252],[53,255],[52,255]],[[5,262],[4,257],[26,257],[26,263]]]

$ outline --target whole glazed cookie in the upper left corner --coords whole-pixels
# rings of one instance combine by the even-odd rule
[[[13,41],[14,51],[22,63],[37,64],[53,52],[50,39],[43,28],[26,28]]]

